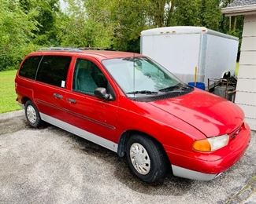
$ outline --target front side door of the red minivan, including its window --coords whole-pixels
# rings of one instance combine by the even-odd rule
[[[113,147],[118,142],[117,100],[101,100],[95,97],[97,87],[106,88],[107,91],[111,89],[106,76],[96,63],[92,60],[76,59],[72,88],[66,95],[69,124],[89,132],[90,137],[95,137],[98,144],[103,143],[101,145],[109,149],[117,148],[117,145]],[[98,137],[110,140],[113,144]]]

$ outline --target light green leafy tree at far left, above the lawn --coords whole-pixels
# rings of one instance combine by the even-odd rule
[[[24,55],[35,49],[36,15],[33,9],[24,13],[15,0],[0,1],[0,71],[17,67]]]

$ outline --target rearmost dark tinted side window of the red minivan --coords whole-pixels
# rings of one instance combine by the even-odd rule
[[[25,78],[35,79],[35,74],[37,67],[39,66],[39,62],[42,56],[30,56],[20,67],[19,75]]]

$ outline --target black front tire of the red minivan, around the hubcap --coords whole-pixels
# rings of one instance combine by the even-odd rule
[[[132,164],[130,149],[131,147],[135,148],[135,145],[138,144],[142,145],[143,148],[146,149],[146,154],[150,158],[150,169],[148,170],[148,173],[146,171],[147,174],[139,173],[139,171],[135,169],[135,166]],[[168,162],[166,161],[165,152],[162,150],[158,143],[147,136],[135,134],[128,139],[125,148],[128,166],[136,177],[139,177],[140,180],[143,180],[147,183],[157,183],[163,181],[165,174],[167,173]],[[132,156],[134,156],[133,153]],[[135,159],[133,159],[133,161],[135,161]]]

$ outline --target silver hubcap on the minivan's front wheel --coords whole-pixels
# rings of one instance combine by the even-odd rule
[[[139,143],[132,144],[130,148],[130,158],[133,167],[140,174],[146,175],[150,172],[150,156],[143,145]]]

